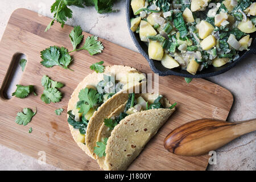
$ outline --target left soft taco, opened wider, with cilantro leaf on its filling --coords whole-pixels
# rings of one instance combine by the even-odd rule
[[[105,67],[103,73],[89,74],[80,82],[68,102],[68,123],[73,139],[86,154],[96,158],[93,156],[95,144],[92,143],[96,143],[98,119],[108,117],[127,100],[129,93],[123,90],[127,92],[127,89],[141,85],[145,80],[146,76],[135,68],[113,65]],[[92,150],[89,150],[87,142],[93,145],[90,147]]]

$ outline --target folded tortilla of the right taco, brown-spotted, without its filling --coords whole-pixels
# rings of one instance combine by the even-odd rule
[[[140,94],[140,96],[148,101],[147,98],[152,94]],[[171,104],[166,98],[162,98],[162,103],[166,109],[150,109],[127,115],[112,131],[105,123],[102,123],[97,142],[102,141],[103,138],[108,138],[105,150],[106,156],[97,157],[97,162],[102,169],[125,170],[133,162],[146,143],[175,111],[175,108],[168,109]],[[108,118],[122,113],[125,105],[126,102],[119,106]]]

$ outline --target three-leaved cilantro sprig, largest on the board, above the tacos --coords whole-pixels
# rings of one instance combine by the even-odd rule
[[[82,35],[82,29],[80,26],[74,27],[74,29],[69,34],[69,38],[73,46],[72,51],[68,52],[68,49],[65,47],[48,47],[40,52],[42,58],[42,61],[40,63],[46,68],[51,68],[57,65],[64,69],[69,69],[68,67],[73,61],[69,53],[86,50],[90,53],[90,55],[95,55],[96,53],[101,53],[104,49],[102,43],[98,41],[98,37],[93,35],[86,38],[84,46],[82,46],[81,48],[77,48],[77,46],[84,39],[84,35]]]

